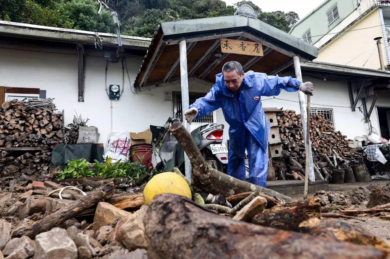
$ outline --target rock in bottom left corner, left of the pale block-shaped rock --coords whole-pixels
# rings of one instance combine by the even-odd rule
[[[12,238],[2,252],[5,256],[15,259],[25,259],[34,256],[34,241],[28,236]]]

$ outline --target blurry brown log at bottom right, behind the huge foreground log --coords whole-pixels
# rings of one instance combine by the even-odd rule
[[[329,240],[333,239],[357,245],[373,246],[387,255],[390,254],[390,245],[388,243],[381,240],[381,238],[373,236],[366,229],[346,221],[312,218],[302,222],[300,231],[301,233],[326,237]]]

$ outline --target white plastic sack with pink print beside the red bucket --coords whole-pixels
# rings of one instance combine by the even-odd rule
[[[103,159],[107,157],[122,161],[128,159],[130,151],[130,132],[111,132],[108,134]]]

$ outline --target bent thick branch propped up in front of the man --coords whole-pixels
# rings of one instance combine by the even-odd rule
[[[234,177],[211,168],[202,157],[202,154],[200,154],[191,134],[180,122],[172,124],[169,130],[182,145],[188,158],[190,158],[192,165],[192,184],[203,192],[221,194],[224,197],[228,197],[248,191],[259,191],[260,193],[277,198],[280,201],[291,201],[291,198],[284,194],[235,179]]]

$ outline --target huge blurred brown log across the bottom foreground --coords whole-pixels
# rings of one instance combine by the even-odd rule
[[[255,226],[210,213],[174,194],[156,196],[144,217],[149,258],[385,258],[374,247]]]

